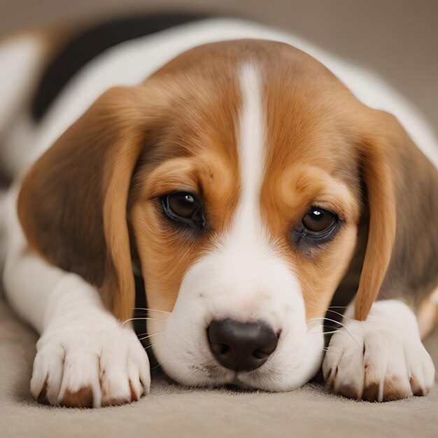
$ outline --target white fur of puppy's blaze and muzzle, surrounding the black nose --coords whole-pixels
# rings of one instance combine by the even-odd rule
[[[276,253],[260,217],[264,180],[265,119],[257,66],[240,72],[243,108],[239,125],[241,197],[232,227],[217,236],[216,248],[185,274],[165,341],[153,347],[171,377],[190,385],[238,383],[266,390],[290,390],[316,374],[323,355],[320,325],[307,333],[304,301],[297,278]],[[188,311],[190,309],[190,311]],[[276,351],[252,372],[232,372],[213,359],[206,338],[212,320],[262,321],[281,331]],[[148,330],[162,330],[148,322]]]

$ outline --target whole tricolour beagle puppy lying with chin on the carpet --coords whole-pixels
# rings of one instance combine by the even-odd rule
[[[322,365],[346,397],[426,395],[438,172],[421,115],[372,73],[259,24],[142,29],[77,69],[84,32],[56,56],[44,31],[0,49],[16,176],[3,284],[41,334],[34,397],[101,407],[149,392],[134,274],[143,337],[179,383],[288,391]]]

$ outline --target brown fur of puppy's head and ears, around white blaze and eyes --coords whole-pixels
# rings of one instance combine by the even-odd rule
[[[247,59],[262,71],[267,108],[262,216],[301,282],[308,318],[327,309],[368,211],[356,318],[367,317],[384,279],[385,290],[400,290],[391,285],[404,269],[404,242],[421,216],[416,209],[428,205],[407,206],[400,190],[409,199],[428,194],[435,169],[393,118],[360,104],[311,57],[281,43],[234,41],[190,50],[139,87],[110,90],[24,181],[18,211],[31,245],[99,286],[118,318],[134,308],[132,257],[141,264],[149,306],[171,311],[185,271],[229,226],[240,184],[235,78]],[[411,157],[422,174],[410,188],[403,163]],[[181,232],[160,209],[160,196],[189,189],[202,197],[208,218],[198,236]],[[303,254],[290,232],[314,203],[343,224],[330,243]],[[423,236],[431,226],[416,231]],[[430,250],[410,269],[409,281],[422,290],[433,281],[423,265],[434,257]]]

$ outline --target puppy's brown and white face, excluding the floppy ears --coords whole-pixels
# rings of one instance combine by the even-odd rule
[[[339,111],[327,92],[309,91],[294,66],[242,59],[202,79],[201,90],[185,88],[134,176],[130,218],[148,306],[172,312],[150,312],[153,349],[190,385],[295,388],[320,365],[323,323],[313,318],[355,248],[350,139],[332,122]],[[211,329],[226,320],[269,327],[278,337],[269,360],[252,369],[262,360],[237,357],[240,340]]]

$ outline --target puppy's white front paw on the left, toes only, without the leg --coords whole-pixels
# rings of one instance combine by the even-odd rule
[[[53,327],[36,344],[31,393],[66,407],[129,403],[149,391],[146,352],[129,327],[103,323]]]

